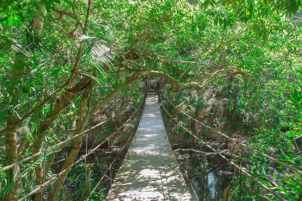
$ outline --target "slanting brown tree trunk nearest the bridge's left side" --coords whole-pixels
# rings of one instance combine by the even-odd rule
[[[78,135],[79,133],[84,131],[84,127],[88,121],[88,111],[86,111],[86,106],[87,106],[87,102],[89,97],[92,95],[92,81],[88,84],[87,88],[84,91],[83,97],[82,97],[82,101],[80,104],[80,108],[79,108],[79,120],[77,122],[77,131],[74,133],[75,135]],[[74,140],[74,144],[73,144],[73,148],[67,158],[67,160],[65,161],[65,164],[63,166],[63,168],[61,169],[61,171],[65,170],[66,168],[68,168],[75,160],[75,158],[77,158],[78,153],[82,147],[82,143],[83,143],[83,136],[79,136],[77,138],[75,138]],[[60,175],[61,180],[64,182],[67,174],[68,174],[69,170],[64,172],[63,174]],[[49,198],[49,200],[53,200],[56,201],[60,195],[60,191],[62,188],[62,183],[60,180],[57,180],[55,183],[55,187],[52,191],[52,194]]]

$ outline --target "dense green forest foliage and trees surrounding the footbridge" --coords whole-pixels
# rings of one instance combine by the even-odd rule
[[[115,118],[111,126],[121,126],[115,116],[129,110],[129,103],[139,105],[147,76],[167,82],[179,109],[220,131],[253,135],[249,143],[255,149],[300,166],[301,5],[300,0],[0,1],[0,167],[82,133],[98,112]],[[98,140],[107,131],[100,131]],[[61,170],[77,158],[82,138],[72,141]],[[21,198],[50,178],[51,151],[45,160],[45,168],[44,155],[38,155],[0,172],[0,199]],[[267,166],[259,171],[266,160],[253,153],[247,160],[263,183],[287,200],[298,199],[302,175],[279,175],[280,186],[265,178]],[[58,200],[60,180],[49,188],[45,198]],[[40,197],[38,191],[32,199]]]

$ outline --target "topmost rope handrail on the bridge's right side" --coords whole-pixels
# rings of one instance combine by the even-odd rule
[[[245,148],[247,148],[247,149],[249,149],[249,150],[251,150],[251,151],[254,151],[255,153],[257,153],[257,154],[259,154],[259,155],[262,155],[264,158],[266,158],[266,159],[268,159],[268,160],[271,160],[271,161],[273,161],[273,162],[275,162],[275,163],[278,163],[279,165],[282,165],[282,166],[284,166],[284,167],[290,169],[290,170],[293,171],[293,172],[297,172],[297,173],[299,173],[299,174],[302,174],[302,171],[301,171],[298,167],[296,167],[295,165],[291,165],[291,166],[290,166],[290,165],[288,165],[288,164],[286,164],[286,163],[283,163],[283,162],[281,162],[281,161],[279,161],[279,160],[277,160],[277,159],[275,159],[275,158],[273,158],[273,157],[271,157],[271,156],[269,156],[269,155],[267,155],[267,154],[264,154],[264,153],[262,153],[262,152],[260,152],[260,151],[258,151],[258,150],[256,150],[256,149],[254,149],[254,148],[252,148],[252,147],[246,145],[246,144],[243,144],[242,142],[240,142],[240,141],[238,141],[238,140],[236,140],[236,139],[234,139],[234,138],[232,138],[232,137],[230,137],[230,136],[227,136],[227,135],[225,135],[225,134],[223,134],[223,133],[221,133],[221,132],[219,132],[219,131],[217,131],[217,130],[215,130],[215,129],[209,127],[209,126],[207,126],[206,124],[204,124],[204,123],[202,123],[202,122],[196,120],[195,118],[193,118],[193,117],[187,115],[186,113],[184,113],[184,112],[182,112],[181,110],[179,110],[179,109],[178,109],[178,108],[177,108],[177,107],[169,100],[169,98],[166,96],[166,94],[165,94],[164,92],[163,92],[163,94],[164,94],[165,98],[171,103],[171,105],[172,105],[174,108],[176,108],[180,113],[184,114],[184,115],[187,116],[188,118],[191,118],[192,120],[196,121],[197,123],[201,124],[202,126],[208,128],[208,129],[210,129],[211,131],[214,131],[214,132],[218,133],[219,135],[221,135],[221,136],[223,136],[223,137],[225,137],[225,138],[228,138],[229,140],[232,140],[233,142],[238,143],[238,144],[242,145],[243,147],[245,147]]]

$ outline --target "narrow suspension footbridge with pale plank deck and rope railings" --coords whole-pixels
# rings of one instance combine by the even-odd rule
[[[89,199],[89,197],[92,195],[92,193],[97,189],[99,185],[101,185],[103,182],[107,182],[108,179],[106,179],[105,175],[107,175],[109,172],[111,172],[112,165],[116,161],[118,157],[120,157],[122,150],[124,150],[127,145],[131,143],[132,136],[134,135],[132,144],[130,145],[130,148],[123,160],[123,163],[119,169],[118,174],[116,175],[112,185],[111,189],[108,193],[107,200],[192,200],[192,196],[190,192],[188,191],[188,188],[186,186],[186,183],[190,185],[192,189],[192,195],[194,194],[194,200],[199,200],[198,196],[196,195],[194,188],[192,187],[190,180],[188,178],[188,175],[186,171],[184,172],[184,175],[182,175],[180,171],[180,166],[178,165],[178,162],[172,152],[169,139],[167,137],[167,133],[165,131],[165,126],[163,124],[162,116],[166,116],[166,118],[170,118],[171,120],[177,121],[175,117],[173,117],[169,111],[167,110],[166,106],[167,104],[170,105],[175,110],[178,110],[178,114],[182,114],[190,118],[192,121],[195,121],[200,125],[200,127],[206,128],[208,130],[211,130],[220,136],[229,139],[233,142],[235,142],[235,146],[240,146],[242,149],[248,149],[251,152],[259,154],[261,157],[265,158],[268,161],[275,162],[276,164],[279,164],[281,166],[284,166],[291,170],[294,173],[302,174],[302,171],[300,167],[297,167],[295,164],[287,164],[285,162],[282,162],[274,157],[271,157],[267,154],[262,153],[261,151],[255,149],[254,147],[245,144],[243,142],[240,142],[236,139],[231,138],[230,136],[227,136],[209,126],[207,126],[205,123],[200,122],[188,114],[182,112],[179,110],[172,102],[171,100],[165,95],[165,92],[160,89],[160,93],[165,98],[165,101],[163,101],[162,104],[159,104],[159,96],[158,94],[147,94],[146,100],[145,100],[145,106],[143,109],[143,113],[138,118],[139,121],[136,121],[135,114],[142,108],[142,103],[136,108],[136,110],[133,112],[133,115],[125,121],[125,123],[117,128],[116,132],[114,132],[110,137],[106,138],[101,142],[98,146],[96,146],[92,150],[87,150],[86,147],[86,154],[79,157],[79,159],[75,162],[73,162],[70,166],[66,167],[66,169],[62,171],[58,171],[56,168],[56,173],[52,176],[48,177],[46,181],[43,181],[41,185],[37,185],[33,189],[31,189],[30,192],[27,194],[21,195],[18,199],[19,201],[22,200],[28,200],[28,198],[43,190],[47,187],[48,184],[60,180],[63,184],[64,181],[60,179],[60,175],[62,175],[64,172],[70,170],[75,165],[79,164],[80,162],[85,161],[85,166],[87,166],[86,158],[90,155],[92,155],[97,149],[100,148],[105,142],[108,142],[110,144],[110,139],[114,138],[117,133],[121,131],[121,129],[126,125],[129,121],[136,121],[135,126],[133,127],[132,134],[128,137],[127,143],[122,147],[121,151],[117,154],[116,158],[110,163],[107,171],[104,173],[104,176],[100,178],[100,181],[98,184],[93,188],[92,191],[90,191],[90,194],[88,194],[86,200]],[[145,91],[146,94],[146,91]],[[135,107],[134,107],[135,108]],[[162,113],[160,111],[160,108],[162,108]],[[54,155],[56,155],[55,150],[59,148],[59,146],[63,143],[70,142],[76,137],[79,136],[85,136],[87,137],[87,133],[102,124],[108,122],[110,119],[107,119],[98,125],[89,128],[88,130],[75,135],[71,138],[68,138],[60,143],[57,143],[56,145],[52,147],[48,147],[44,149],[41,152],[38,152],[36,154],[33,154],[31,156],[28,156],[16,163],[13,163],[11,165],[8,165],[6,167],[3,167],[0,169],[0,172],[10,170],[13,167],[18,166],[19,164],[22,164],[26,161],[29,161],[33,159],[36,156],[43,157],[44,156],[44,164],[45,164],[45,155],[49,152],[54,152]],[[138,124],[139,123],[139,124]],[[215,152],[218,156],[220,156],[222,159],[227,161],[229,164],[233,165],[236,169],[239,170],[240,174],[240,182],[239,182],[239,189],[241,192],[242,188],[242,182],[241,182],[241,174],[244,174],[245,176],[249,177],[251,180],[255,181],[259,186],[264,188],[266,191],[270,193],[270,196],[274,198],[273,200],[282,200],[285,201],[286,199],[283,198],[282,194],[277,193],[275,189],[270,188],[267,186],[267,184],[262,183],[259,179],[257,179],[257,175],[252,174],[247,169],[242,167],[242,154],[239,157],[239,160],[235,161],[229,158],[226,158],[224,155],[222,155],[220,152],[212,148],[208,143],[204,142],[202,139],[200,139],[198,136],[195,136],[190,130],[186,128],[185,125],[183,125],[181,122],[178,122],[179,126],[185,130],[188,134],[190,134],[192,137],[196,138],[201,144],[204,145],[204,147],[207,147],[208,149]],[[137,129],[136,129],[137,128]],[[232,153],[233,154],[233,153]],[[231,155],[232,155],[231,154]],[[205,157],[205,156],[204,156]],[[44,165],[42,164],[42,165]],[[57,165],[57,162],[55,163],[55,166]],[[110,173],[109,173],[110,174]],[[43,176],[44,177],[44,176]],[[109,179],[111,180],[111,179]],[[108,185],[109,186],[109,185]],[[64,188],[64,193],[66,194],[66,197],[68,197],[68,191]],[[241,198],[241,193],[240,193]],[[302,198],[302,194],[297,197],[297,199],[300,201]],[[42,193],[41,193],[41,200],[43,200]]]

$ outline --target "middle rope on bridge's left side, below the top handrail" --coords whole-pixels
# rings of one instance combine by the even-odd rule
[[[145,93],[144,93],[145,94]],[[143,103],[143,101],[141,101],[141,103],[139,104],[139,106],[136,108],[136,110],[134,111],[134,113],[132,114],[132,116],[125,121],[125,123],[119,127],[117,129],[117,131],[115,131],[110,137],[106,138],[102,143],[100,143],[97,147],[95,147],[94,149],[90,150],[87,154],[84,154],[82,156],[80,156],[80,159],[75,161],[74,163],[72,163],[71,165],[69,165],[68,167],[66,167],[64,170],[62,170],[60,173],[56,174],[55,176],[51,177],[48,181],[42,183],[41,185],[37,185],[31,192],[29,192],[28,194],[26,194],[25,196],[23,196],[22,198],[20,198],[18,201],[23,201],[26,198],[30,197],[31,195],[35,194],[36,192],[39,192],[40,190],[44,189],[46,185],[48,185],[51,181],[57,180],[60,178],[60,175],[62,175],[63,173],[65,173],[66,171],[70,170],[73,166],[77,165],[78,163],[80,163],[81,161],[85,160],[90,154],[94,153],[100,146],[102,146],[105,142],[107,142],[110,138],[114,137],[114,135],[116,133],[118,133],[118,131],[120,131],[121,128],[123,128],[125,126],[125,124],[131,120],[134,115],[136,114],[136,112],[139,110],[141,104]],[[87,131],[88,132],[88,131]],[[51,149],[51,148],[49,148]]]

